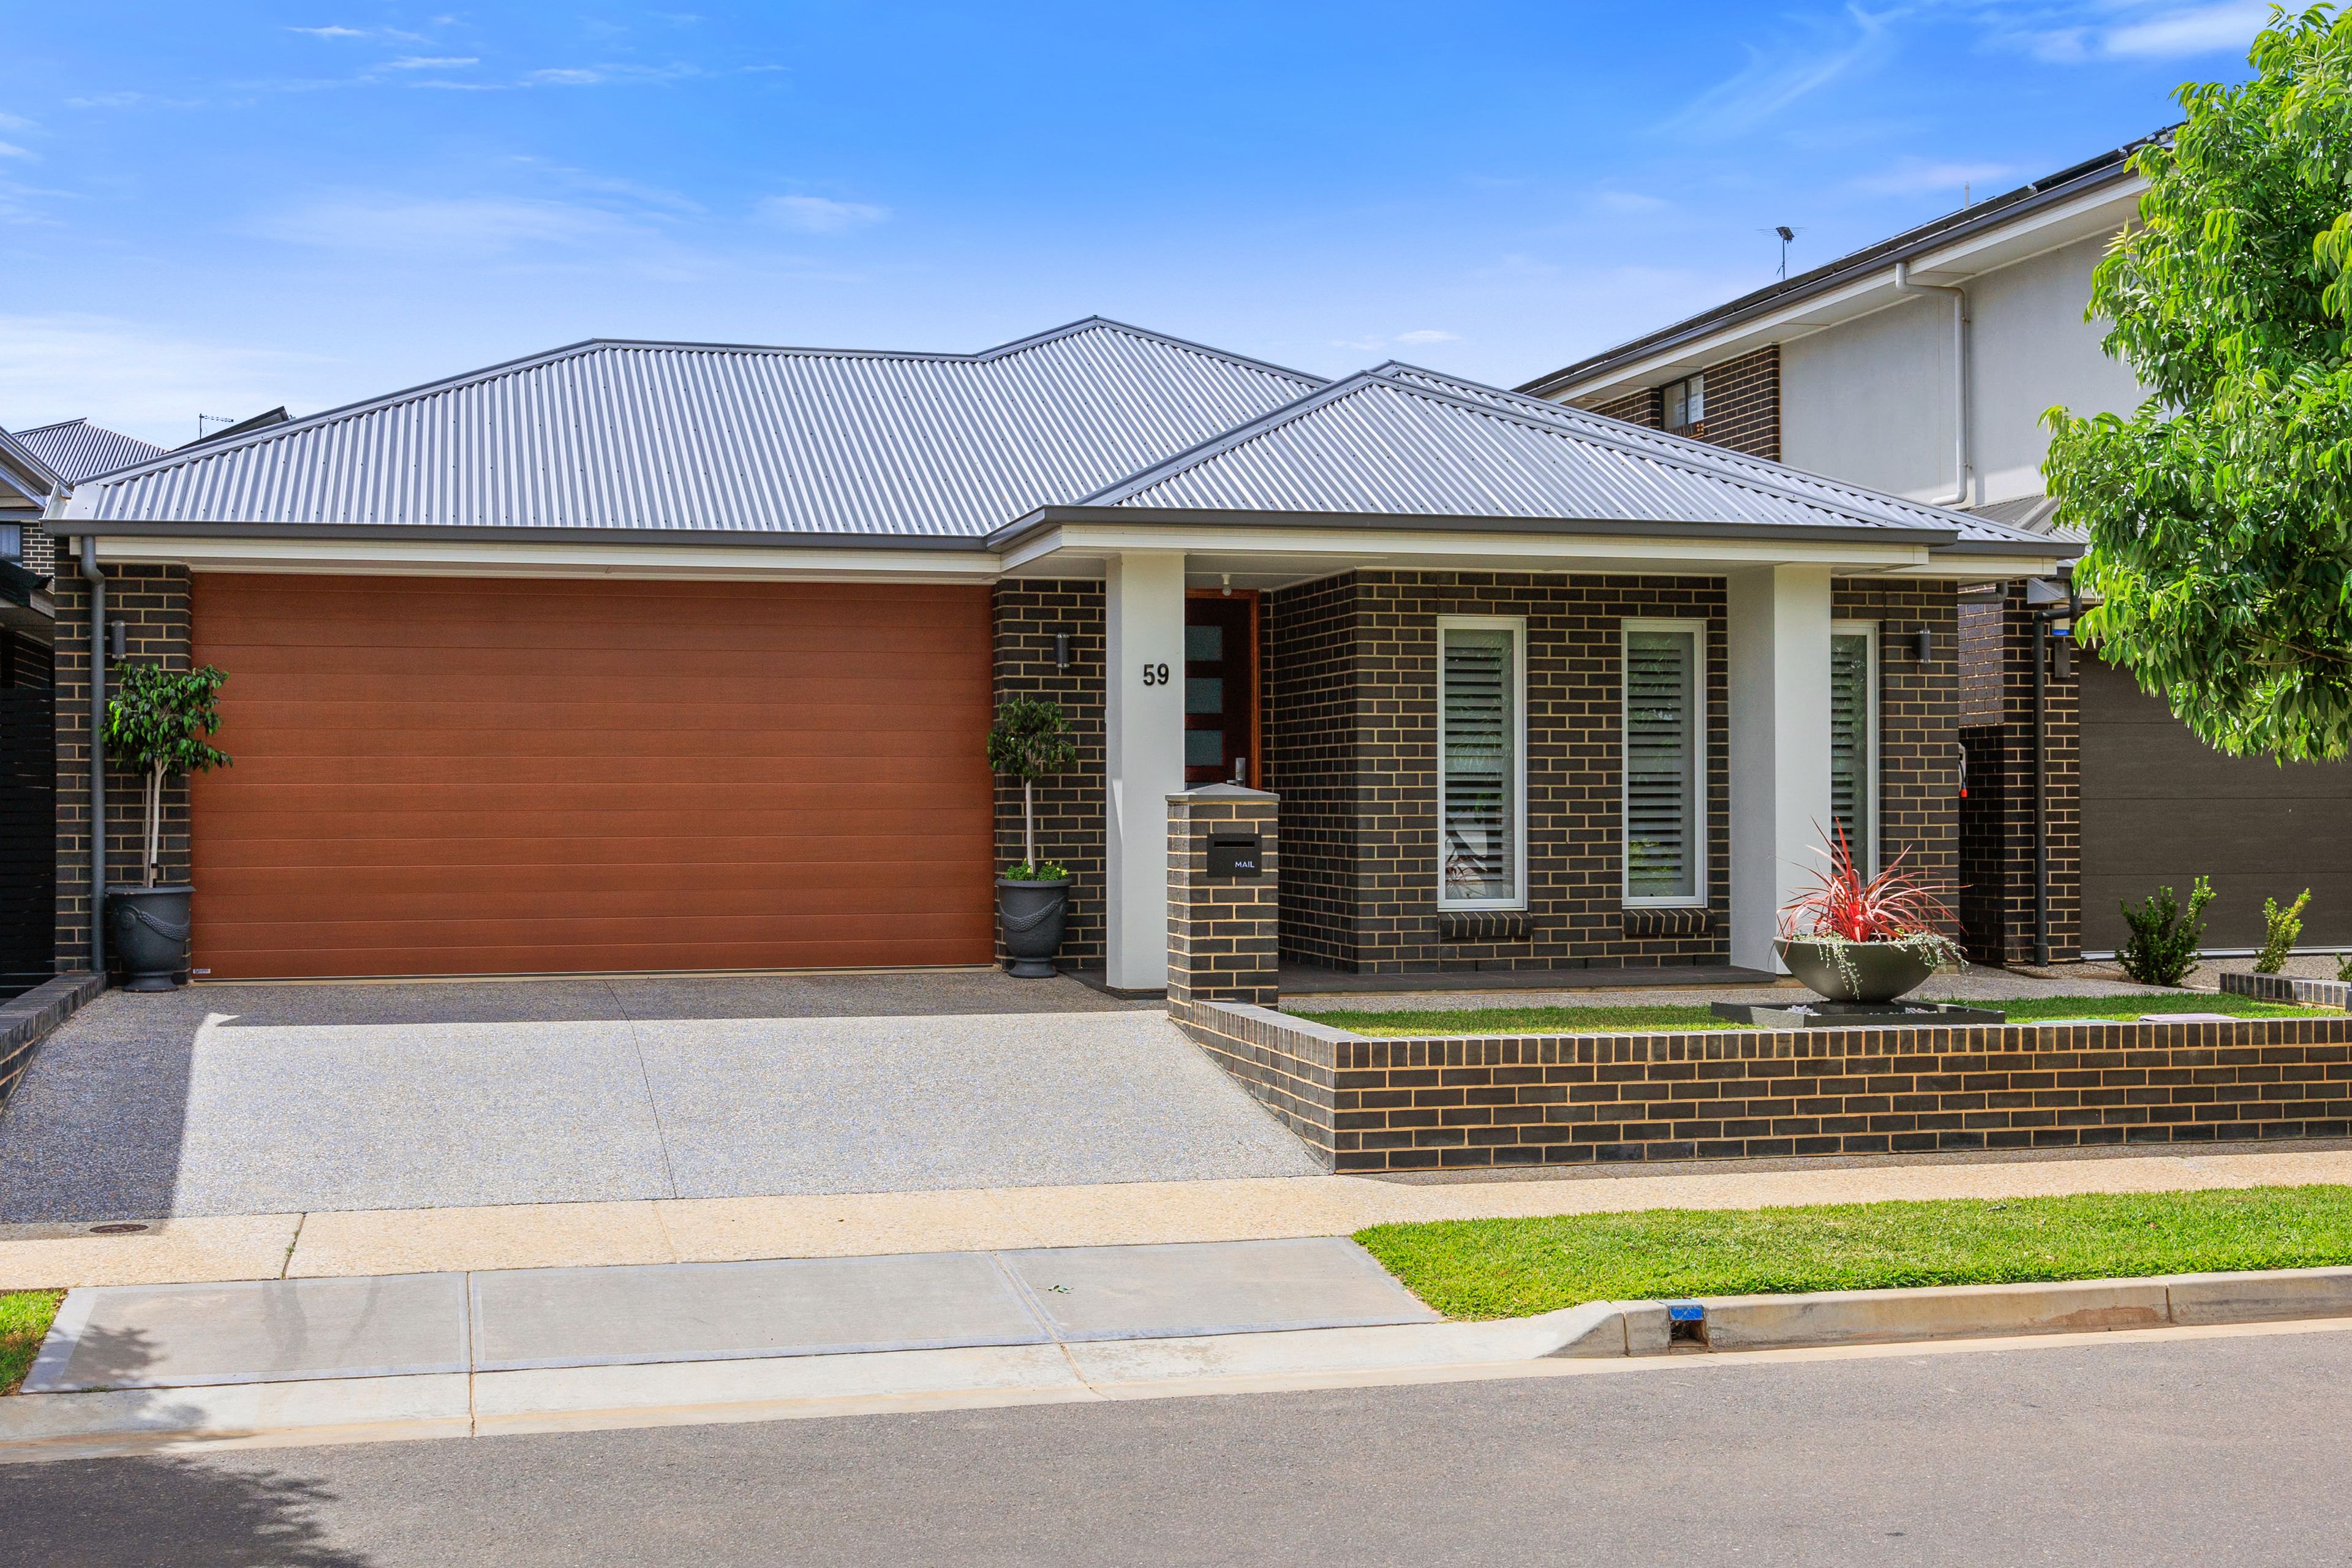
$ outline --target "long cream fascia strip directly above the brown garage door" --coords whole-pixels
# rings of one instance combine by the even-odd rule
[[[993,550],[856,550],[762,545],[541,545],[355,538],[188,538],[101,534],[101,562],[162,562],[191,571],[318,571],[358,576],[541,576],[990,583]]]

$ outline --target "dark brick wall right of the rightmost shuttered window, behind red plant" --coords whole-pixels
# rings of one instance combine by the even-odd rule
[[[1879,623],[1879,865],[1903,867],[1957,905],[1959,599],[1950,583],[1839,578],[1830,614]],[[1915,635],[1929,630],[1919,663]],[[1959,936],[1959,919],[1950,922]]]

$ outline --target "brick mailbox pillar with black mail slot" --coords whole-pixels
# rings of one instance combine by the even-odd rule
[[[1169,1011],[1275,1006],[1279,799],[1240,785],[1169,795]]]

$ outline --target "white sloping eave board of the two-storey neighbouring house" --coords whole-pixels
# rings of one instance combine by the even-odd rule
[[[1910,273],[1919,282],[1952,287],[2020,261],[2032,261],[2034,256],[2044,256],[2053,249],[2065,249],[2079,240],[2122,230],[2124,223],[2138,216],[2140,195],[2145,195],[2145,190],[2147,181],[2133,174],[2129,181],[2117,186],[2089,190],[2070,202],[2030,212],[2016,223],[1994,223],[1992,228],[1955,240],[1952,244],[1907,256]],[[1724,360],[1736,360],[1743,353],[1764,348],[1766,343],[1790,343],[1795,339],[1811,336],[1823,327],[1837,327],[1842,322],[1856,322],[1865,315],[1877,315],[1879,310],[1903,303],[1905,299],[1905,294],[1896,292],[1896,263],[1889,259],[1884,266],[1851,277],[1825,294],[1795,299],[1766,315],[1724,322],[1719,331],[1684,339],[1682,343],[1665,346],[1653,355],[1621,364],[1609,371],[1606,378],[1588,381],[1564,397],[1555,395],[1552,402],[1571,402],[1581,409],[1590,409],[1597,402],[1613,402],[1625,393],[1635,393],[1661,381],[1675,381],[1677,376],[1710,369]]]

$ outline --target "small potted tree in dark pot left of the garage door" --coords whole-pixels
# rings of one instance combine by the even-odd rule
[[[165,670],[115,665],[106,703],[106,752],[146,773],[146,853],[139,886],[106,889],[106,929],[134,992],[167,992],[188,971],[191,884],[158,886],[162,867],[162,788],[169,778],[226,766],[207,736],[221,726],[221,682],[212,665]]]

